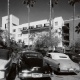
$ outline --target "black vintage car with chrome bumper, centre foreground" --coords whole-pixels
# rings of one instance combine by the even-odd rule
[[[43,56],[35,51],[23,51],[19,59],[19,78],[23,79],[46,79],[51,80],[52,69],[44,61]]]

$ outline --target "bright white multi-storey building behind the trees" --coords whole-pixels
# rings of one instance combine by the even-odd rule
[[[7,28],[7,23],[8,23],[8,17],[4,16],[2,17],[2,29],[6,30]],[[58,36],[62,38],[61,30],[62,26],[64,24],[64,21],[62,17],[56,17],[54,20],[52,20],[52,31],[56,32],[55,36]],[[11,37],[13,37],[17,42],[18,41],[24,41],[26,45],[28,45],[28,28],[31,29],[30,33],[40,33],[43,31],[48,31],[49,30],[49,20],[39,20],[39,21],[34,21],[30,22],[30,26],[28,23],[24,23],[19,25],[19,18],[17,18],[14,15],[10,15],[10,34]],[[22,30],[24,32],[22,33]],[[32,44],[32,41],[30,41],[30,45]],[[59,47],[62,47],[62,41],[59,44]]]

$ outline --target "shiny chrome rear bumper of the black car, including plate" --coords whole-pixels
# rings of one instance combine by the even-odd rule
[[[43,74],[43,73],[19,73],[19,78],[25,79],[25,78],[43,78],[43,77],[53,77],[52,74]]]

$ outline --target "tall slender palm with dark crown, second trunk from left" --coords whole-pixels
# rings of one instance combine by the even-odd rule
[[[28,49],[29,49],[29,45],[30,45],[30,41],[29,41],[29,36],[30,36],[30,7],[33,7],[35,4],[35,0],[24,0],[23,4],[27,5],[27,9],[28,9]]]

